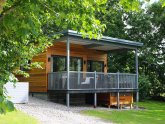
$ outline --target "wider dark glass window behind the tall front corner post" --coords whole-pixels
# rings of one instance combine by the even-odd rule
[[[66,56],[52,56],[53,72],[67,70]],[[70,71],[82,71],[82,58],[70,57]]]

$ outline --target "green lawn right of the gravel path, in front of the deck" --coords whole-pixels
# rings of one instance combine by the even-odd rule
[[[118,124],[165,124],[165,102],[146,101],[139,106],[145,110],[87,110],[83,114]]]

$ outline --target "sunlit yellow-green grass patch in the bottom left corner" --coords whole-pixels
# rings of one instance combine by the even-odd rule
[[[13,111],[0,115],[0,124],[39,124],[39,122],[21,111]]]

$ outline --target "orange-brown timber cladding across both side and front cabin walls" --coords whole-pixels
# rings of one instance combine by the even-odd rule
[[[66,56],[66,42],[55,42],[44,53],[40,53],[33,58],[33,62],[43,62],[43,69],[29,70],[29,78],[17,75],[19,81],[29,82],[30,92],[47,92],[48,73],[51,72],[50,57],[52,55]],[[82,45],[70,44],[70,55],[83,59],[83,71],[87,71],[87,60],[103,61],[104,65],[107,65],[107,54],[105,52],[86,49]],[[104,72],[107,72],[107,66],[104,67]]]

